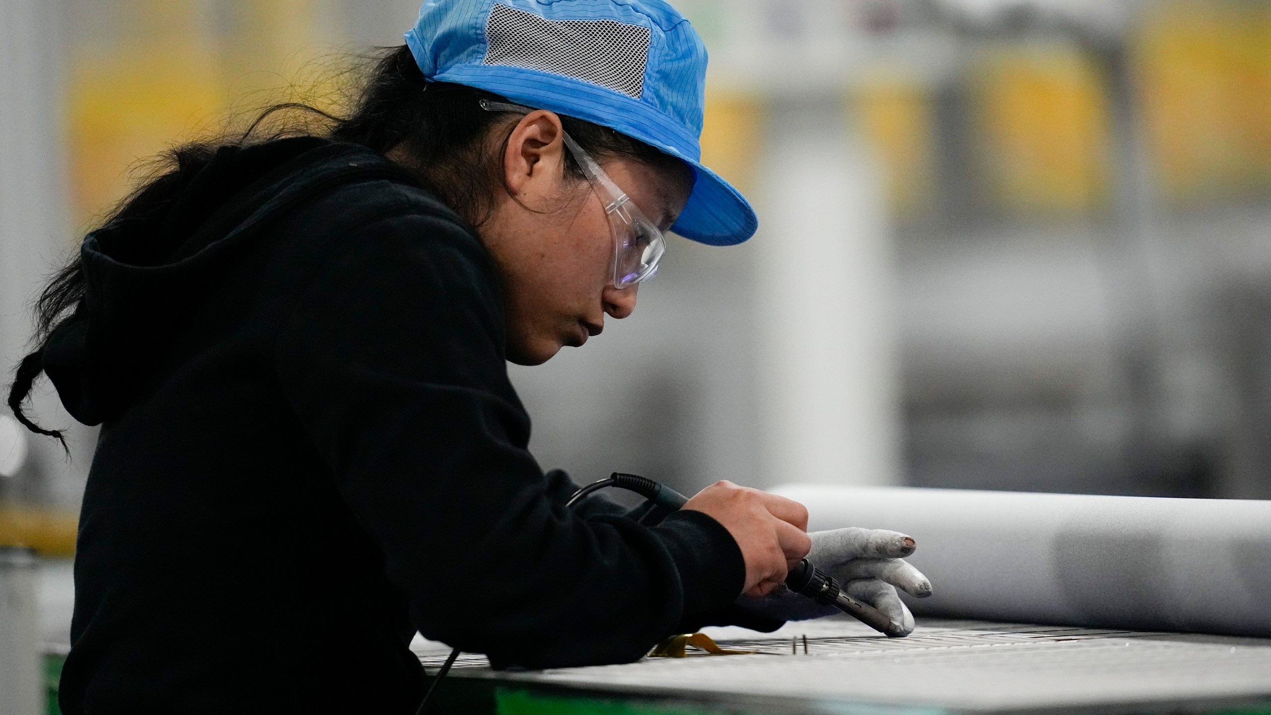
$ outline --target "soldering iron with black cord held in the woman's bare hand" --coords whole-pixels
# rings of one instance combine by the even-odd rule
[[[679,511],[689,501],[689,497],[663,485],[662,482],[657,482],[639,475],[614,472],[609,476],[609,478],[592,482],[573,492],[573,496],[569,497],[566,506],[573,506],[582,497],[605,487],[618,487],[625,489],[627,491],[634,491],[636,494],[652,501],[655,505],[670,511]],[[807,559],[799,561],[798,565],[791,569],[785,575],[785,588],[797,594],[806,595],[821,606],[834,606],[839,611],[843,611],[848,616],[852,616],[871,628],[881,634],[886,634],[887,637],[905,636],[904,628],[901,628],[899,623],[892,623],[891,618],[888,618],[886,613],[878,611],[868,603],[862,603],[848,595],[834,576],[830,576],[825,571],[817,569]]]

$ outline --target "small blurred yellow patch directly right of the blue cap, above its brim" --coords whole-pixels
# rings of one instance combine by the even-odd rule
[[[745,94],[708,93],[702,127],[702,163],[745,193],[754,186],[761,153],[763,104]]]

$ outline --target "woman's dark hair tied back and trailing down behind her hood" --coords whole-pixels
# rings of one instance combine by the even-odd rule
[[[100,221],[112,226],[164,211],[180,188],[211,162],[221,146],[248,146],[283,136],[316,135],[360,144],[381,154],[399,149],[409,158],[419,182],[441,197],[470,224],[479,226],[493,209],[503,184],[501,153],[489,150],[491,132],[506,123],[507,115],[480,107],[482,99],[505,101],[472,87],[428,83],[407,46],[385,48],[371,57],[369,71],[356,73],[360,81],[350,109],[343,116],[305,103],[275,104],[261,112],[245,131],[215,140],[201,140],[170,149],[156,159],[158,169]],[[655,170],[685,170],[685,164],[657,149],[609,127],[562,116],[564,130],[588,154],[597,158],[629,158]],[[511,130],[508,130],[511,131]],[[507,137],[503,137],[506,146]],[[582,169],[566,153],[566,172],[582,179]],[[48,336],[84,305],[84,267],[76,254],[58,270],[34,304],[38,345],[14,370],[9,408],[28,430],[66,440],[61,430],[41,427],[23,411],[37,378],[44,371],[43,349]]]

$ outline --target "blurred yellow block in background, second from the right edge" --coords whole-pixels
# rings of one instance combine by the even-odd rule
[[[1104,78],[1077,47],[986,50],[972,69],[991,198],[1007,212],[1073,215],[1108,190]]]

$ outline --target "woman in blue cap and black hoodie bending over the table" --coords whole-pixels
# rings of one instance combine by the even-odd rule
[[[408,714],[416,631],[544,668],[780,625],[802,505],[567,510],[506,368],[630,316],[665,232],[755,232],[699,162],[705,62],[662,0],[428,1],[348,112],[177,148],[84,238],[9,394],[102,425],[65,714]],[[911,545],[869,538],[902,620]]]

